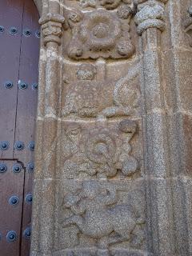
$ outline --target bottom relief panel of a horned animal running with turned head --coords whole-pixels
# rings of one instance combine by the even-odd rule
[[[55,256],[150,255],[141,181],[70,179],[58,184]]]

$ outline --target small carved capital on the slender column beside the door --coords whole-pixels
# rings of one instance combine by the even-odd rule
[[[48,13],[40,18],[44,45],[48,42],[56,42],[61,45],[62,24],[65,18],[60,14]]]

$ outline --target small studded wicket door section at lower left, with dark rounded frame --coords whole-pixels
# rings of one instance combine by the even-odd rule
[[[1,256],[20,255],[24,172],[17,161],[0,161]]]

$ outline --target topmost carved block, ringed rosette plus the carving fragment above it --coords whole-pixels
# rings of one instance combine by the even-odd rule
[[[133,13],[132,1],[66,1],[66,56],[77,60],[130,58],[135,50],[130,34]]]

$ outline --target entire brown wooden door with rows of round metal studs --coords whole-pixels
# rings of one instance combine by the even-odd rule
[[[30,254],[39,37],[33,0],[0,1],[1,256]]]

